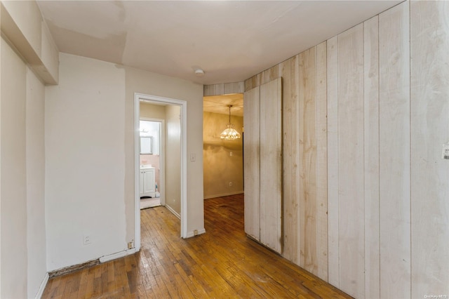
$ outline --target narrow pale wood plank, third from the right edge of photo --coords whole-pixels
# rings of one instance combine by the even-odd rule
[[[365,296],[380,298],[379,17],[364,22]]]

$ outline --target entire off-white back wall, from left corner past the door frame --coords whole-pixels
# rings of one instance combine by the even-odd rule
[[[187,150],[198,157],[187,166],[195,177],[187,230],[203,228],[202,88],[60,53],[60,84],[46,87],[48,270],[124,251],[134,239],[134,93],[187,100]]]

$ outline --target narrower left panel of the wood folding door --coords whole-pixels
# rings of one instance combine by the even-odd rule
[[[245,232],[260,241],[260,88],[243,93]]]

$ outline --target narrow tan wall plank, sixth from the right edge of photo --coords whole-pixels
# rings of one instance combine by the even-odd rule
[[[316,274],[328,280],[326,41],[316,46]],[[314,233],[314,232],[312,232]]]

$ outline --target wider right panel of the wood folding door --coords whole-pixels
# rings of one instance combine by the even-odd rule
[[[260,242],[279,253],[282,251],[281,86],[281,78],[260,86]]]

